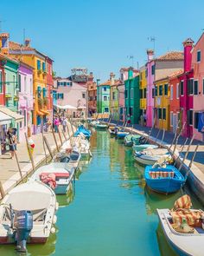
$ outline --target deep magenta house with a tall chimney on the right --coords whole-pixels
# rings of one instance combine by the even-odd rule
[[[194,108],[194,69],[192,69],[192,53],[194,41],[188,38],[183,42],[184,64],[183,73],[178,75],[180,80],[180,116],[182,121],[182,135],[192,137],[193,135],[193,108]],[[184,125],[185,124],[185,125]]]

